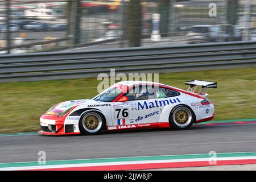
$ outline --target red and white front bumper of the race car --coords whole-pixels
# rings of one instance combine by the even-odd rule
[[[76,123],[65,123],[66,117],[44,114],[40,117],[41,131],[43,135],[77,135],[80,134]]]

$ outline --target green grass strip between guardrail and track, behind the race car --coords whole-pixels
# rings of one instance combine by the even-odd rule
[[[159,74],[163,84],[187,89],[188,80],[217,81],[209,89],[214,120],[256,118],[256,68]],[[97,78],[0,84],[0,133],[39,130],[39,117],[57,102],[92,98]]]

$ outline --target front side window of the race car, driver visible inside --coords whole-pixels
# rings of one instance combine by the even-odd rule
[[[148,100],[156,98],[154,86],[150,85],[137,85],[131,88],[125,95],[129,101],[135,100]]]

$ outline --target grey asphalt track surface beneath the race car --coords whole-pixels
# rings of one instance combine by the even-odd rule
[[[193,125],[191,129],[147,129],[68,137],[0,137],[0,163],[256,151],[256,125]]]

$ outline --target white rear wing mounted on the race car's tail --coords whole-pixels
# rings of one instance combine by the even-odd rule
[[[207,90],[209,88],[217,88],[217,82],[210,82],[210,81],[202,81],[202,80],[191,80],[191,81],[186,81],[185,85],[189,85],[187,91],[188,92],[195,92],[196,88],[198,85],[201,86],[201,89],[199,90],[199,92],[195,92],[199,95],[203,95],[205,97],[208,96],[207,94]]]

